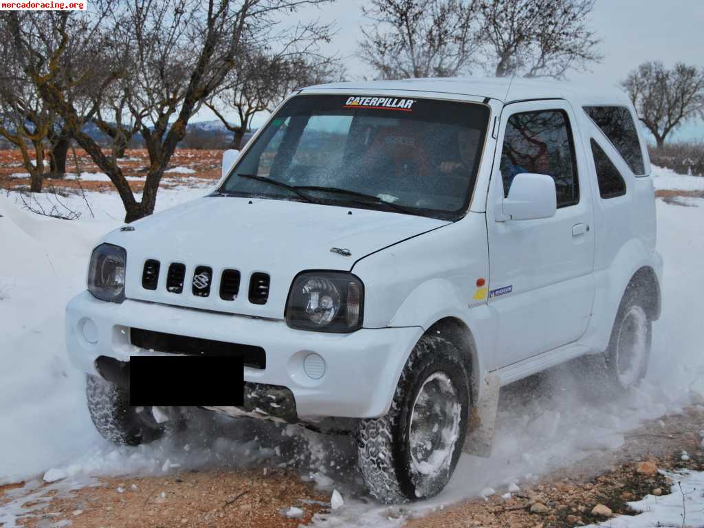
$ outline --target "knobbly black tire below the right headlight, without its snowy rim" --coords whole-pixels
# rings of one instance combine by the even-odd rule
[[[434,372],[442,372],[451,380],[461,403],[460,422],[450,465],[439,474],[420,477],[414,474],[410,463],[410,413],[422,384]],[[422,337],[401,372],[389,413],[358,423],[358,463],[370,494],[385,504],[407,503],[439,494],[460,458],[469,411],[469,368],[460,351],[441,337]],[[419,478],[427,478],[422,486],[416,484]]]

